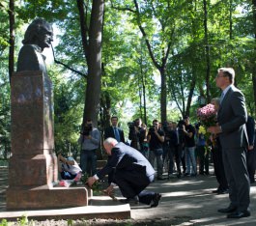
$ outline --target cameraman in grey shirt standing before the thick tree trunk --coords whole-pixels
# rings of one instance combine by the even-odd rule
[[[87,120],[80,132],[78,143],[81,145],[80,165],[83,173],[92,176],[97,172],[96,151],[100,145],[100,130]]]

